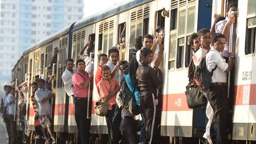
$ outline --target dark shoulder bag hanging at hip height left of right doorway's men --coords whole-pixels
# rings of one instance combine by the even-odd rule
[[[188,108],[202,107],[207,103],[207,98],[201,93],[200,87],[194,83],[187,85],[185,95]]]

